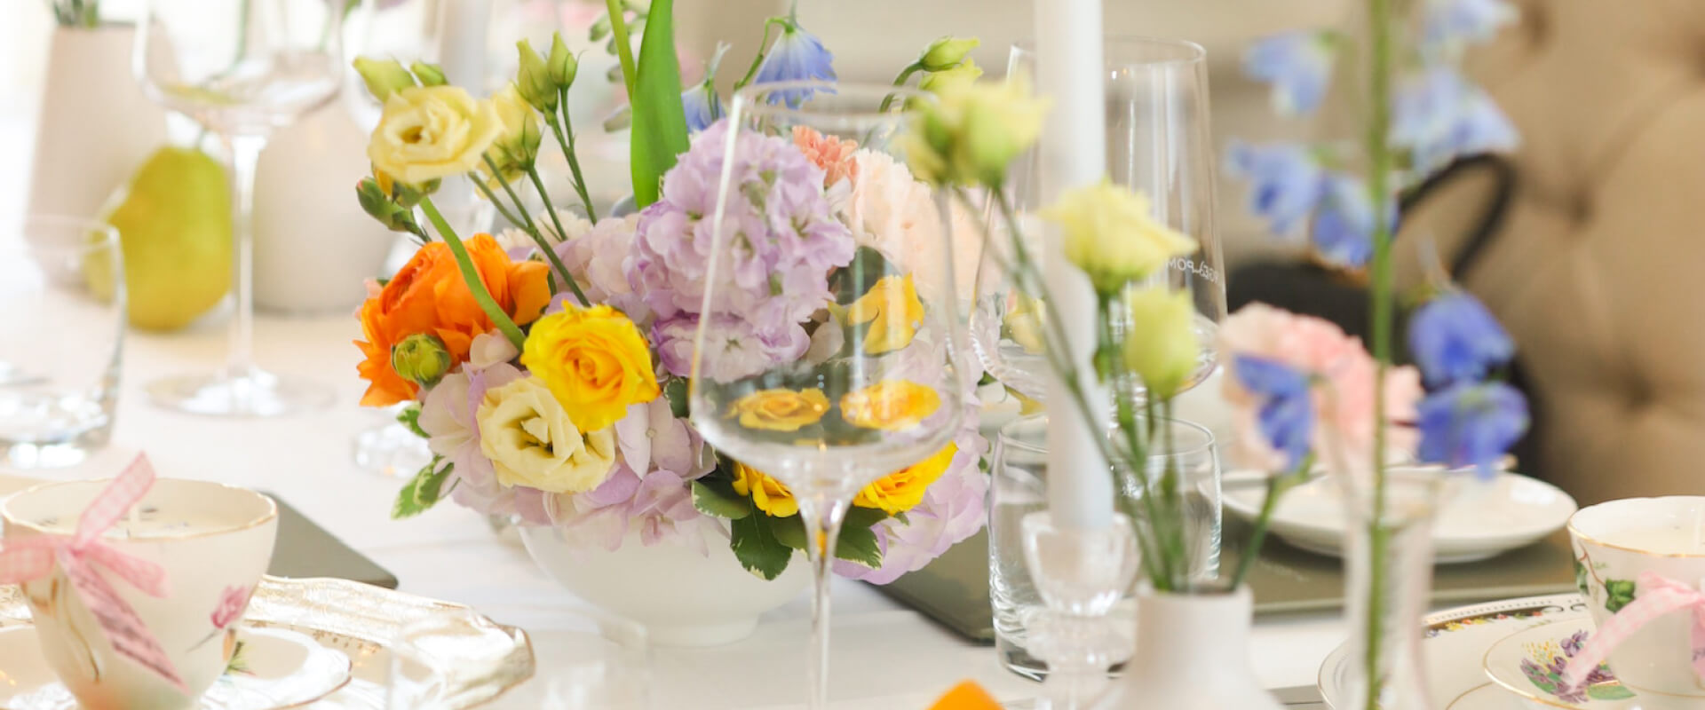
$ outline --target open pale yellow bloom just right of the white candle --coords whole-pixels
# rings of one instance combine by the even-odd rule
[[[1194,238],[1154,218],[1149,198],[1108,180],[1061,192],[1042,216],[1061,225],[1066,259],[1089,274],[1103,295],[1197,250]]]

